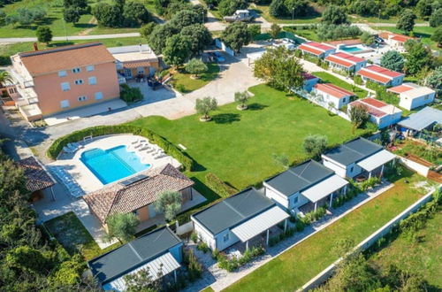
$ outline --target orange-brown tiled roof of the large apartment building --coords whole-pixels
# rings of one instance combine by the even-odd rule
[[[19,53],[19,57],[32,76],[115,61],[115,58],[101,42],[28,51]]]

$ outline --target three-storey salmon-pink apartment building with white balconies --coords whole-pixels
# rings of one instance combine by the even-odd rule
[[[12,99],[27,120],[102,103],[119,96],[115,58],[90,42],[11,56]]]

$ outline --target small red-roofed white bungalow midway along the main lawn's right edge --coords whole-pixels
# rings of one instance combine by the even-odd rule
[[[348,104],[351,96],[354,96],[353,92],[331,83],[317,83],[312,92],[316,93],[316,96],[322,97],[321,105],[328,107],[332,103],[335,109],[340,109]]]

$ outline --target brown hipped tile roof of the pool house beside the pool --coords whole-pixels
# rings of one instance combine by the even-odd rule
[[[83,198],[96,217],[105,222],[110,214],[127,213],[155,202],[156,196],[164,191],[179,191],[194,185],[194,181],[170,164],[136,175],[140,174],[144,178],[139,181],[127,185],[126,180],[117,181]]]

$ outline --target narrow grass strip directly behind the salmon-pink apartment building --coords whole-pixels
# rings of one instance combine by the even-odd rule
[[[113,39],[97,39],[97,40],[80,40],[80,41],[68,41],[68,42],[51,42],[50,46],[46,46],[44,43],[39,43],[38,47],[40,50],[54,48],[58,46],[64,46],[74,43],[84,43],[84,42],[103,42],[107,47],[118,47],[138,44],[140,42],[145,42],[141,37],[125,37],[125,38],[113,38]],[[8,65],[11,63],[9,57],[18,52],[34,50],[32,42],[18,42],[6,45],[0,45],[0,65]]]

